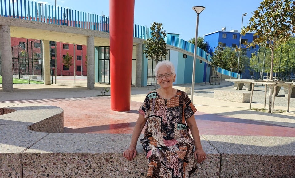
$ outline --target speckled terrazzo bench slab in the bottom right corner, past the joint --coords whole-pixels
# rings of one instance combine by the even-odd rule
[[[295,177],[295,137],[202,136],[221,154],[221,178]]]

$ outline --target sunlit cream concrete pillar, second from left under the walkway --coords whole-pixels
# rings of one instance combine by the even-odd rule
[[[43,45],[43,70],[44,70],[44,84],[50,85],[50,44],[49,40],[42,40]]]

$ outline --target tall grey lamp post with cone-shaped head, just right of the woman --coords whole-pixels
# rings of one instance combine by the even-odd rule
[[[191,103],[193,103],[194,99],[194,88],[195,88],[195,65],[196,65],[196,52],[197,52],[197,44],[198,44],[198,27],[199,27],[199,14],[205,9],[203,6],[194,6],[193,10],[197,13],[197,25],[196,25],[196,36],[195,36],[195,49],[194,49],[194,62],[193,62],[193,75],[191,81]]]

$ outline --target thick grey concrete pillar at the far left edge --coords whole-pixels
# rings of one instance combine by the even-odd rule
[[[2,89],[4,92],[13,92],[11,38],[8,25],[0,25],[0,53]]]

